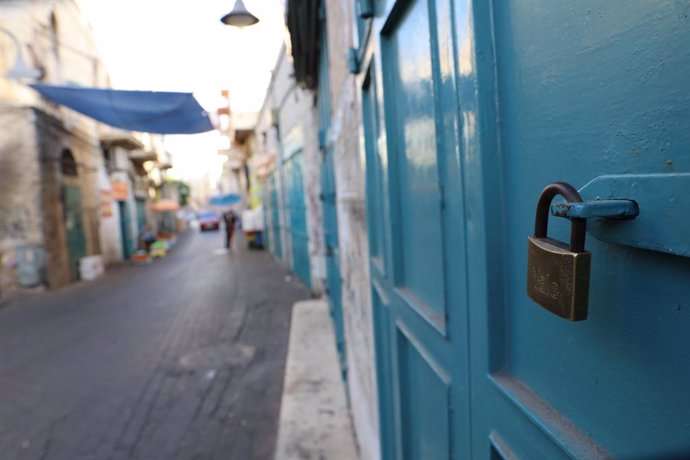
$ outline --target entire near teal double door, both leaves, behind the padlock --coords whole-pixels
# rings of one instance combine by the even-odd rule
[[[690,172],[687,18],[381,2],[360,86],[384,459],[690,458],[690,259],[588,235],[587,321],[525,292],[545,185],[644,176],[666,206]]]

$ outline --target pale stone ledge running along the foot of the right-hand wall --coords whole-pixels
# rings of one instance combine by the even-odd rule
[[[296,303],[291,324],[275,460],[356,460],[328,304]]]

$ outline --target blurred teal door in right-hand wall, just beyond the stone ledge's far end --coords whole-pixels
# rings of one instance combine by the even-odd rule
[[[311,269],[309,267],[309,233],[307,232],[307,205],[302,176],[302,156],[302,150],[298,150],[285,161],[284,168],[287,181],[292,267],[299,279],[309,288],[311,287]]]

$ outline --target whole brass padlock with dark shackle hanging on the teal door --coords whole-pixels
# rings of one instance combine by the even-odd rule
[[[580,194],[570,184],[554,182],[539,196],[534,236],[527,250],[527,295],[536,303],[571,321],[587,319],[589,273],[592,254],[585,251],[587,221],[573,218],[570,245],[546,236],[549,208],[556,195],[580,202]]]

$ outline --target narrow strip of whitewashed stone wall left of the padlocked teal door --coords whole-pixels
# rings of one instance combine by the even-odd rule
[[[378,399],[369,280],[361,103],[347,67],[354,42],[354,2],[326,0],[331,127],[338,212],[348,390],[362,459],[379,457]]]

